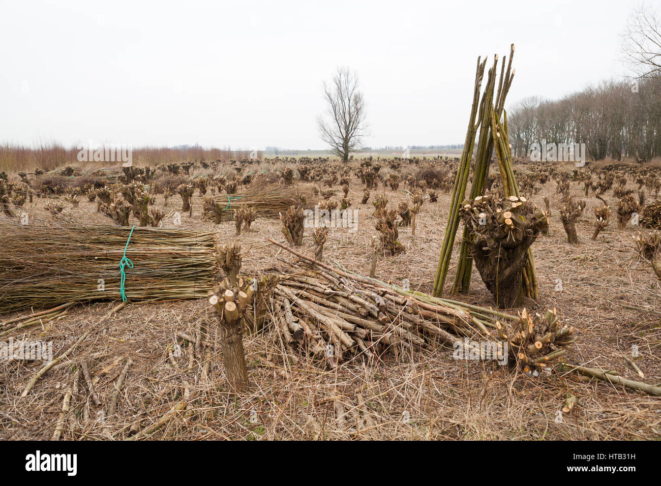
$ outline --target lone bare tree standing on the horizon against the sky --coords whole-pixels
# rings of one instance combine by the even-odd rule
[[[330,120],[319,117],[321,139],[345,163],[349,153],[362,148],[366,136],[365,102],[358,91],[358,76],[346,67],[338,67],[331,85],[324,83],[324,97]]]

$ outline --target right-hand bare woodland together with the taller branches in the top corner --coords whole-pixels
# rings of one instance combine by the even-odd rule
[[[585,143],[601,160],[661,155],[661,15],[642,3],[623,33],[623,61],[630,81],[606,81],[556,101],[531,97],[510,110],[510,142],[519,157],[531,145]]]

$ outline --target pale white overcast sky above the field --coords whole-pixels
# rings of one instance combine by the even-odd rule
[[[338,65],[360,77],[367,145],[462,143],[477,56],[514,42],[510,104],[561,97],[625,74],[639,1],[0,5],[0,142],[321,149]]]

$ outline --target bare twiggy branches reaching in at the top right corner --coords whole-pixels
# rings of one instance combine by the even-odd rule
[[[649,5],[635,9],[627,22],[623,54],[638,78],[661,77],[661,22]]]

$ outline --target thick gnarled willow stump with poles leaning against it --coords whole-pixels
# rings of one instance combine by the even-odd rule
[[[477,196],[461,207],[467,246],[498,307],[522,302],[528,249],[546,225],[546,214],[524,197]],[[526,285],[529,282],[525,282]]]

